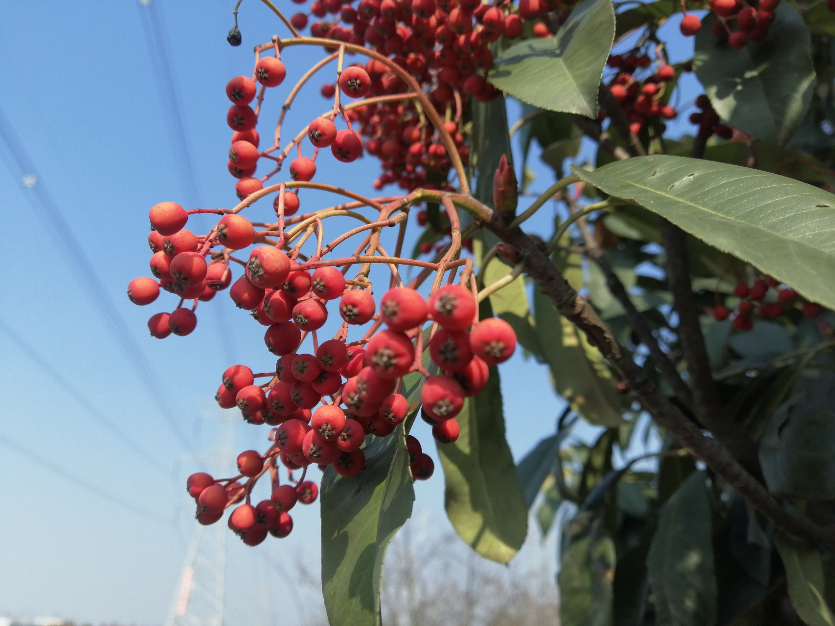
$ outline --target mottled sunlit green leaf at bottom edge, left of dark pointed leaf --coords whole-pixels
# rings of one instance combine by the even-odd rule
[[[562,626],[610,626],[615,543],[608,537],[584,537],[572,543],[559,568],[559,623]]]

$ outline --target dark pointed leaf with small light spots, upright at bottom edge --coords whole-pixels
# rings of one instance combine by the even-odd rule
[[[693,472],[661,509],[646,565],[657,623],[716,624],[711,505],[704,472]]]

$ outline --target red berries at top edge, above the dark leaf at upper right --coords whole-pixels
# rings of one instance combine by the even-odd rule
[[[731,48],[739,50],[749,41],[758,42],[765,38],[780,0],[709,0],[709,3],[711,11],[716,13],[718,18],[711,27],[713,34],[718,38],[727,39]],[[701,19],[692,13],[686,13],[681,19],[680,28],[683,35],[691,37],[699,32]]]

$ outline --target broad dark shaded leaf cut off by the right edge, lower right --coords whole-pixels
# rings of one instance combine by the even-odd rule
[[[835,497],[835,389],[831,372],[774,411],[760,442],[762,474],[779,497]]]

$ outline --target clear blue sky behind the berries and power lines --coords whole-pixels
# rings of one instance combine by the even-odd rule
[[[234,179],[226,172],[230,130],[224,86],[235,75],[251,73],[253,45],[283,31],[263,5],[250,0],[240,13],[244,44],[230,48],[225,33],[233,3],[154,2],[170,42],[200,205],[230,207],[236,200]],[[143,30],[140,12],[148,10],[134,0],[0,6],[0,108],[38,169],[38,191],[53,198],[103,285],[100,293],[85,289],[89,276],[79,275],[73,256],[36,210],[33,189],[22,186],[13,161],[3,154],[0,616],[162,623],[194,526],[185,477],[203,467],[184,458],[210,451],[214,441],[215,422],[201,416],[220,411],[212,398],[226,366],[245,362],[265,371],[274,365],[263,347],[263,327],[236,310],[225,292],[200,305],[191,336],[164,341],[148,336],[145,321],[158,310],[173,310],[174,297],[163,293],[153,305],[138,307],[124,295],[129,280],[148,275],[149,207],[162,200],[190,203],[178,165],[182,152],[172,148],[171,106],[161,96]],[[676,25],[662,32],[667,28]],[[690,51],[682,48],[673,60],[690,56],[692,40],[685,45]],[[315,49],[286,52],[286,83],[269,92],[268,117],[276,119],[287,86],[320,55]],[[296,100],[285,136],[326,110],[318,94],[323,82],[314,80]],[[692,86],[686,91],[683,101],[696,94]],[[511,117],[519,110],[515,103],[509,109]],[[262,137],[269,134],[269,125],[263,127]],[[552,174],[536,152],[530,161],[539,174],[533,189],[541,191]],[[376,159],[338,164],[329,154],[322,157],[317,180],[375,193]],[[337,204],[313,193],[304,194],[302,202]],[[251,216],[271,215],[268,204],[254,209]],[[204,227],[209,224],[203,221]],[[530,226],[547,230],[550,223],[543,210]],[[124,341],[101,315],[106,300],[124,320],[139,356],[124,351]],[[3,327],[28,348],[18,346]],[[159,382],[153,393],[134,367],[137,359],[149,364],[146,376]],[[519,458],[552,431],[559,401],[544,368],[521,355],[501,373],[505,397],[513,398],[505,405],[509,443]],[[160,406],[185,433],[185,443],[175,437]],[[432,450],[428,427],[418,423],[416,431]],[[267,432],[268,427],[241,422],[235,449],[263,449]],[[446,532],[441,472],[418,483],[416,492],[415,514],[425,511],[438,532]],[[271,603],[289,593],[257,551],[282,563],[291,578],[297,558],[317,571],[318,506],[296,507],[293,517],[296,528],[281,542],[268,538],[259,548],[245,548],[230,535],[231,626],[266,618],[258,599],[262,589],[271,590]]]

